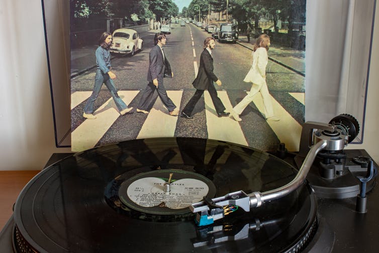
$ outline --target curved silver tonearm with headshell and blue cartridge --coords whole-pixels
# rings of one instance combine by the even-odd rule
[[[314,131],[315,129],[318,130]],[[309,152],[306,155],[298,174],[290,183],[263,193],[253,192],[246,194],[243,191],[237,191],[213,199],[204,198],[204,201],[194,203],[190,206],[191,211],[197,214],[197,224],[199,226],[204,226],[213,223],[215,220],[224,218],[225,206],[234,205],[249,212],[252,208],[258,208],[272,200],[290,194],[297,190],[306,180],[312,163],[321,150],[342,150],[348,143],[347,133],[332,124],[306,122],[303,126],[302,136],[308,135],[310,136]]]

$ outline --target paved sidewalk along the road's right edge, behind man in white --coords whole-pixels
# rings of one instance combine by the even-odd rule
[[[239,36],[237,43],[243,47],[253,50],[255,39],[250,37],[250,42],[247,42],[246,36]],[[270,45],[268,50],[268,58],[292,71],[305,76],[305,51],[295,50],[292,48]]]

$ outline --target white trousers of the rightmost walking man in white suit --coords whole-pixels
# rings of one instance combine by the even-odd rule
[[[247,94],[241,102],[239,102],[234,108],[234,112],[236,112],[238,115],[240,115],[243,110],[253,101],[253,97],[260,92],[260,95],[262,96],[263,100],[263,106],[264,106],[264,116],[267,118],[274,116],[274,112],[272,109],[272,103],[271,103],[271,97],[268,93],[267,84],[264,82],[262,85],[257,85],[256,83],[253,83],[250,89],[250,93]]]

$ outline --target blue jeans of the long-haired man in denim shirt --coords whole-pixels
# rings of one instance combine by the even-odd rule
[[[84,112],[87,114],[93,113],[93,104],[99,96],[99,92],[103,86],[103,83],[105,83],[108,90],[111,92],[112,98],[115,101],[116,106],[119,109],[119,112],[128,108],[128,106],[124,103],[124,101],[122,101],[122,99],[117,94],[115,84],[113,83],[113,80],[111,79],[111,77],[109,77],[109,74],[108,73],[104,74],[102,72],[102,70],[98,69],[96,71],[95,84],[93,87],[93,92],[92,92],[91,96],[89,97],[89,99],[87,100],[87,103],[85,104]]]

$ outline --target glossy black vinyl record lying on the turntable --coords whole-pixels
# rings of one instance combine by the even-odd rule
[[[272,155],[217,140],[154,138],[93,148],[51,165],[23,189],[14,210],[16,249],[296,252],[317,229],[316,197],[306,182],[208,226],[197,226],[187,208],[203,195],[276,189],[296,174]],[[162,194],[168,177],[173,186]]]

